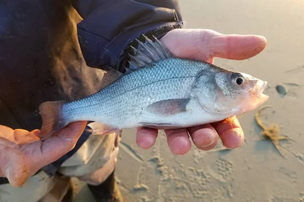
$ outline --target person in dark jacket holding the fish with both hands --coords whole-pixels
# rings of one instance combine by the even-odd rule
[[[96,93],[106,66],[124,73],[141,34],[159,38],[175,57],[210,63],[247,59],[267,44],[258,35],[185,29],[176,0],[3,0],[0,25],[0,201],[67,201],[70,177],[86,182],[96,201],[124,200],[114,174],[121,133],[92,134],[83,121],[42,141],[38,109]],[[244,141],[237,119],[165,133],[177,155],[191,149],[190,138],[202,150],[218,136],[227,148]],[[149,149],[157,136],[138,128],[136,143]]]

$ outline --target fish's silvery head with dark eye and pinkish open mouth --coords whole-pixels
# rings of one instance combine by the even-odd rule
[[[202,74],[196,84],[200,94],[197,96],[199,102],[209,112],[227,116],[243,114],[269,99],[269,96],[263,94],[267,82],[261,79],[228,70],[212,74],[209,74],[208,80]]]

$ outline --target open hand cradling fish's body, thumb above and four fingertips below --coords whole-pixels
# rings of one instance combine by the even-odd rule
[[[224,35],[207,29],[174,29],[160,39],[169,52],[184,59],[214,62],[215,57],[244,60],[260,53],[267,45],[262,36]],[[218,135],[227,148],[238,148],[244,142],[244,132],[238,119],[230,118],[203,126],[165,130],[168,146],[174,154],[185,154],[191,149],[191,136],[201,150],[212,149],[218,142]],[[136,143],[143,149],[154,145],[158,130],[138,128]]]

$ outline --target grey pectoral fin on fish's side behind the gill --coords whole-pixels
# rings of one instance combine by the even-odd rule
[[[173,115],[186,111],[186,105],[190,101],[187,99],[171,99],[155,102],[146,107],[146,110],[161,115]]]

